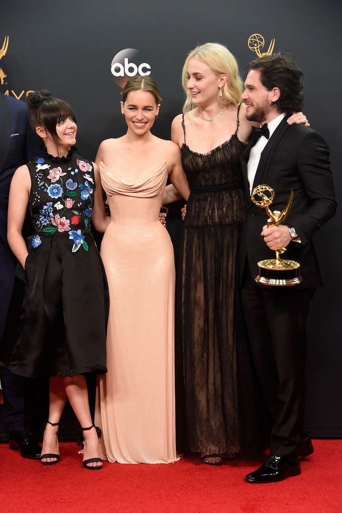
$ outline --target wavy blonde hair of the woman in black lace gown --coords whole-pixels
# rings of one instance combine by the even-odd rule
[[[205,43],[204,45],[197,46],[188,54],[183,66],[182,87],[186,94],[186,100],[183,105],[184,114],[197,107],[193,105],[191,93],[186,87],[187,66],[192,57],[196,57],[209,66],[218,76],[222,74],[227,75],[227,82],[222,87],[222,96],[219,96],[217,91],[218,100],[222,106],[238,105],[241,103],[242,80],[236,58],[224,45]]]

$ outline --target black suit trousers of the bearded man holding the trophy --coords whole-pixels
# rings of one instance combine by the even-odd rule
[[[297,458],[304,436],[306,321],[315,289],[259,287],[246,265],[243,310],[272,419],[271,453]]]

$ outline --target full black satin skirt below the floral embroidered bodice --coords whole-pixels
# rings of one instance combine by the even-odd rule
[[[75,253],[67,233],[30,247],[14,348],[10,361],[0,362],[14,374],[36,378],[106,372],[108,286],[90,233],[85,241],[88,250],[80,247]]]

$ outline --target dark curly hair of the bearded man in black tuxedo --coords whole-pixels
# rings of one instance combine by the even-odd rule
[[[247,72],[260,71],[262,85],[271,91],[274,87],[280,89],[280,97],[274,102],[279,112],[291,115],[299,112],[303,102],[303,72],[293,62],[287,53],[265,55],[247,66]]]

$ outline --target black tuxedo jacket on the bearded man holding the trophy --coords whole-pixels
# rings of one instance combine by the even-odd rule
[[[247,210],[240,248],[240,283],[246,263],[256,276],[259,260],[275,258],[275,251],[269,249],[260,235],[267,224],[267,212],[251,200],[247,163],[252,146],[253,141],[241,155]],[[327,143],[304,125],[288,125],[284,117],[261,152],[253,188],[259,184],[267,184],[275,191],[272,211],[282,211],[293,190],[293,203],[285,223],[295,228],[301,242],[291,241],[282,257],[300,263],[303,282],[296,289],[320,286],[312,237],[336,211]]]

